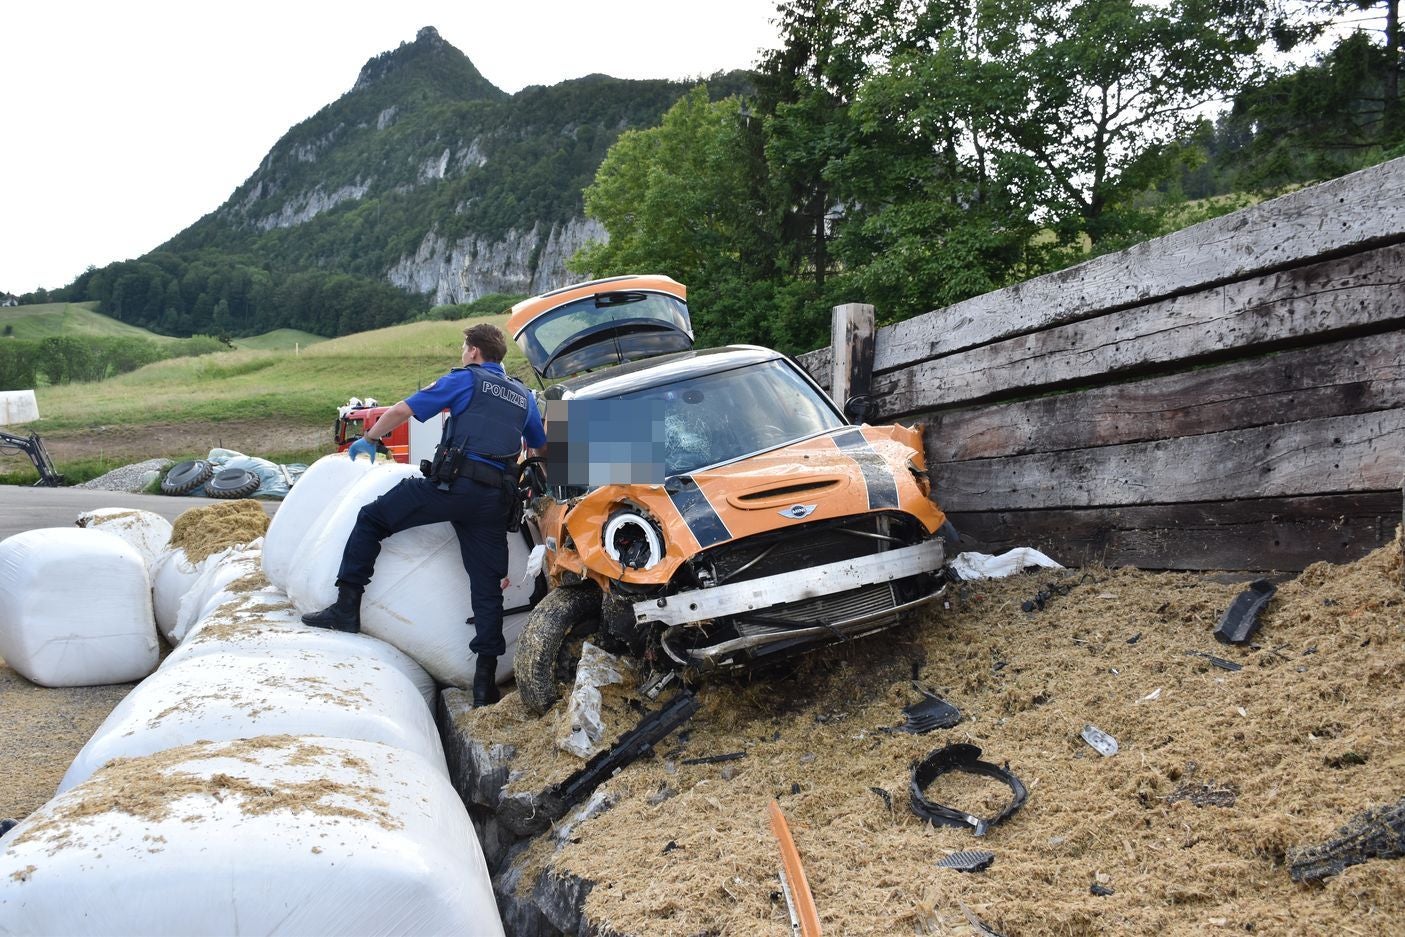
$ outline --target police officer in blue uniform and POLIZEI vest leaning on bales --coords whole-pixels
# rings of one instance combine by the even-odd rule
[[[497,326],[464,330],[464,367],[400,400],[351,444],[355,459],[375,462],[377,445],[412,416],[427,420],[445,407],[450,419],[426,478],[407,478],[357,514],[337,570],[337,600],[302,621],[315,628],[361,631],[361,594],[381,541],[402,530],[448,521],[458,534],[459,553],[472,589],[478,634],[469,649],[478,655],[473,705],[497,702],[497,657],[503,641],[503,580],[507,576],[507,523],[517,497],[516,462],[523,443],[540,455],[547,434],[531,392],[503,371],[507,340]]]

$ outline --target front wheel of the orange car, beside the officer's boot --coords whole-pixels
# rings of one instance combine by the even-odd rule
[[[513,670],[523,705],[545,715],[561,698],[561,683],[573,680],[580,641],[600,628],[600,590],[594,584],[561,586],[527,615],[517,639]]]

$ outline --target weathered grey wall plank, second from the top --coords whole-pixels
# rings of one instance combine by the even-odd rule
[[[874,379],[888,414],[1405,322],[1405,246],[1256,277],[923,361]]]

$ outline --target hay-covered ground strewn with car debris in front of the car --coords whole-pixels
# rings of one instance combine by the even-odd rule
[[[1050,583],[1068,593],[1023,611]],[[525,861],[596,882],[587,916],[620,933],[785,933],[776,798],[829,934],[971,933],[967,913],[1005,934],[1405,933],[1405,860],[1324,885],[1293,884],[1286,864],[1405,795],[1401,541],[1307,569],[1279,587],[1255,646],[1220,645],[1211,632],[1242,589],[1131,569],[968,583],[885,636],[704,686],[691,723],[606,785],[608,812],[559,848],[538,837]],[[915,673],[961,709],[958,726],[882,730],[920,698]],[[607,709],[622,707],[607,693]],[[559,705],[538,721],[509,694],[461,728],[516,746],[511,787],[532,788],[580,764],[554,750],[554,719]],[[1121,750],[1096,753],[1086,723]],[[948,742],[1028,787],[984,839],[909,811],[912,763]],[[745,757],[684,764],[732,752]],[[950,774],[927,795],[989,816],[1009,788]],[[993,865],[936,867],[969,848]]]

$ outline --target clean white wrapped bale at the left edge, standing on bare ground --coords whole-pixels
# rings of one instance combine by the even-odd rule
[[[0,542],[0,657],[45,687],[128,683],[155,670],[152,584],[136,548],[76,527]]]

